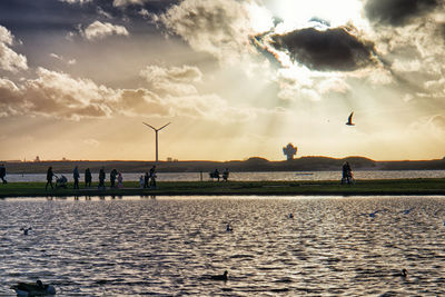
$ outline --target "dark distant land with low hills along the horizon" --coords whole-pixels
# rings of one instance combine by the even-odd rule
[[[301,157],[290,161],[269,161],[253,157],[244,161],[160,161],[157,164],[159,172],[209,172],[215,169],[230,171],[329,171],[340,170],[342,165],[348,161],[353,170],[445,170],[445,160],[425,161],[374,161],[364,157],[347,157],[335,159],[328,157]],[[8,174],[44,174],[49,166],[55,172],[71,172],[78,166],[83,172],[90,168],[98,172],[101,167],[108,172],[116,168],[121,172],[146,172],[155,161],[40,161],[40,162],[4,162]]]

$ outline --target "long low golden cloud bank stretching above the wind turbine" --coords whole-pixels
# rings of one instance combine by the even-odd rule
[[[150,72],[159,73],[159,78]],[[162,96],[148,89],[112,89],[97,85],[90,79],[71,76],[44,68],[37,70],[37,79],[17,86],[0,79],[1,116],[41,115],[79,120],[81,118],[110,118],[113,115],[191,117],[218,121],[243,121],[255,117],[255,112],[230,107],[217,95],[199,95],[188,81],[199,81],[201,72],[194,67],[147,67],[142,73],[152,81],[165,83]],[[167,91],[167,85],[174,89]],[[179,87],[192,91],[180,92]],[[162,87],[162,88],[164,88]],[[176,89],[175,89],[176,88]],[[222,119],[219,119],[222,117]]]

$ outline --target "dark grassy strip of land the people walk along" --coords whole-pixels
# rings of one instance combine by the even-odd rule
[[[339,181],[159,181],[156,189],[141,189],[136,181],[123,182],[121,189],[99,190],[92,187],[44,189],[46,182],[9,182],[0,185],[0,198],[81,197],[81,196],[445,196],[445,179],[357,180]]]

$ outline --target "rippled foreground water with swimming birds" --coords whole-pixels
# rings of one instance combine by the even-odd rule
[[[6,199],[0,295],[444,295],[444,217],[445,197]]]

